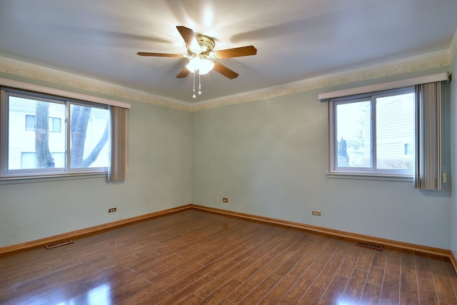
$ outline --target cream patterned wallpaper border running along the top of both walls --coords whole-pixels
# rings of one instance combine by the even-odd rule
[[[105,81],[91,79],[86,76],[79,76],[2,56],[0,56],[0,73],[15,78],[19,76],[21,81],[24,81],[24,79],[29,82],[41,81],[41,83],[65,86],[66,88],[76,89],[79,91],[82,90],[85,92],[113,96],[114,99],[141,101],[144,103],[165,106],[183,111],[201,111],[204,109],[241,104],[249,101],[271,99],[273,97],[294,94],[301,91],[310,91],[341,84],[350,84],[357,81],[366,81],[385,76],[450,66],[456,53],[457,31],[453,36],[451,46],[449,46],[449,49],[447,50],[435,51],[428,54],[422,54],[420,56],[412,56],[406,59],[389,61],[374,66],[367,66],[361,69],[353,69],[338,74],[329,74],[312,79],[304,79],[303,81],[296,81],[289,84],[273,86],[257,91],[249,91],[233,96],[224,96],[220,99],[211,99],[197,103],[169,99],[164,96],[149,94],[144,91],[118,86]]]

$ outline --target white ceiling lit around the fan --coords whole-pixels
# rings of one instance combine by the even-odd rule
[[[236,71],[176,79],[186,59],[176,26],[216,39]],[[457,0],[0,0],[0,55],[179,101],[206,101],[449,49]]]

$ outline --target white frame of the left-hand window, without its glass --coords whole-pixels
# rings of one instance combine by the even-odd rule
[[[52,169],[8,169],[9,166],[9,96],[15,96],[24,99],[34,99],[37,101],[46,101],[56,104],[64,104],[65,118],[61,121],[61,133],[65,137],[65,165],[64,167]],[[47,176],[74,176],[81,174],[106,174],[109,171],[109,157],[107,166],[99,167],[84,167],[84,168],[71,168],[71,156],[69,154],[71,143],[71,128],[70,128],[70,106],[89,106],[94,109],[106,109],[110,111],[108,104],[99,104],[91,101],[81,101],[77,99],[66,98],[63,96],[54,96],[51,94],[41,94],[34,91],[27,91],[24,89],[13,89],[9,87],[0,87],[0,181],[3,179],[16,179],[16,178],[42,178]],[[49,117],[51,118],[51,117]],[[60,119],[60,118],[58,118]],[[110,124],[110,115],[108,114],[108,123]],[[54,127],[53,127],[54,128]],[[30,129],[28,129],[30,130]],[[49,131],[53,133],[53,131]],[[108,136],[107,145],[110,149],[111,139]]]

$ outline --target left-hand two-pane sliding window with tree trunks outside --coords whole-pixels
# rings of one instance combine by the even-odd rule
[[[107,171],[107,105],[3,89],[0,106],[0,178]]]

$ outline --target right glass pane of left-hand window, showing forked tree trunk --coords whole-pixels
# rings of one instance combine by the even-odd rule
[[[70,105],[71,168],[108,167],[109,110]]]

